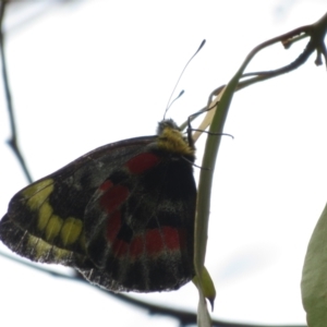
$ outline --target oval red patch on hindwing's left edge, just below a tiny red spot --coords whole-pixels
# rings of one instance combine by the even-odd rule
[[[116,185],[104,193],[104,195],[100,197],[100,205],[106,209],[108,214],[111,214],[119,208],[119,206],[128,198],[128,187]]]

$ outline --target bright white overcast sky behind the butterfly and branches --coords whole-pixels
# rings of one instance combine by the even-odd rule
[[[206,46],[178,86],[177,93],[185,94],[168,113],[178,123],[206,105],[210,92],[228,82],[254,46],[326,12],[323,0],[47,3],[24,24],[13,10],[5,21],[20,145],[35,180],[100,145],[154,134],[182,68],[204,38]],[[286,64],[305,44],[288,51],[276,46],[251,68]],[[305,323],[302,263],[327,198],[327,74],[314,60],[240,92],[232,102],[225,131],[234,140],[225,137],[218,156],[206,262],[217,289],[216,318]],[[2,89],[4,214],[26,180],[5,144],[10,129]],[[201,165],[203,142],[197,148]],[[0,250],[7,251],[2,244]],[[197,305],[192,283],[138,296],[194,311]],[[1,326],[178,324],[3,257],[0,312]]]

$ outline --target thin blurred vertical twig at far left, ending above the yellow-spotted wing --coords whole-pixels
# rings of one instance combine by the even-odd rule
[[[10,128],[11,128],[11,138],[8,140],[8,144],[16,155],[27,181],[32,183],[31,173],[27,169],[27,166],[25,164],[25,160],[23,158],[23,155],[17,144],[16,124],[14,119],[13,105],[12,105],[12,98],[11,98],[11,92],[10,92],[9,78],[8,78],[7,59],[5,59],[5,51],[4,51],[4,33],[3,33],[4,11],[8,3],[9,3],[8,0],[0,0],[0,56],[1,56],[1,64],[2,64],[2,80],[4,85],[4,94],[5,94],[7,108],[9,112]]]

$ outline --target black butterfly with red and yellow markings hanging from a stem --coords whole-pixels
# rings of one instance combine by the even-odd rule
[[[195,275],[195,147],[172,120],[96,148],[16,193],[0,240],[110,291],[169,291]]]

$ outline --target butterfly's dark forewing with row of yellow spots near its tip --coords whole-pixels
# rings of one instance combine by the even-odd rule
[[[83,266],[87,262],[84,213],[89,198],[117,167],[155,138],[105,145],[23,189],[0,221],[0,239],[32,261]]]

